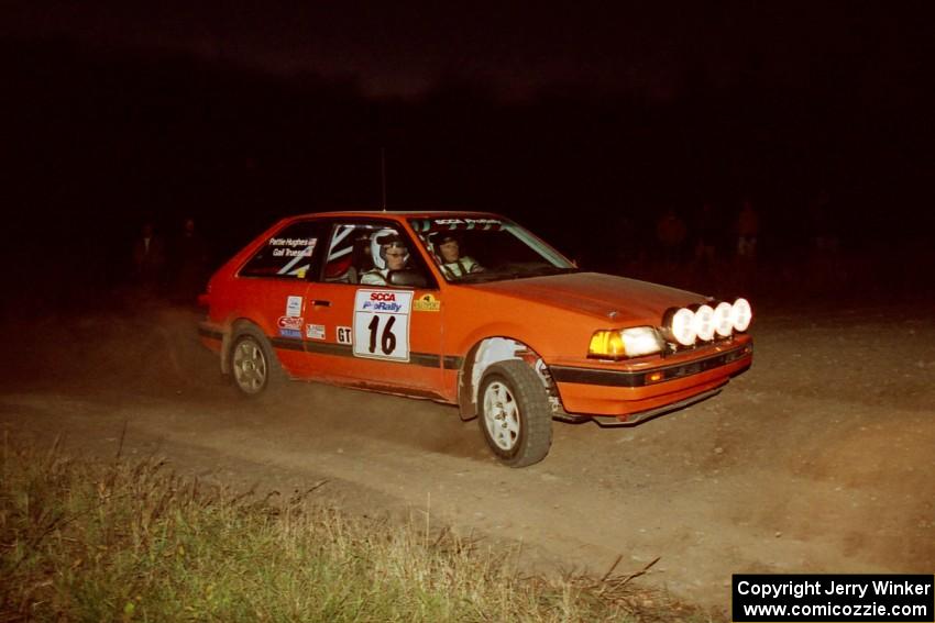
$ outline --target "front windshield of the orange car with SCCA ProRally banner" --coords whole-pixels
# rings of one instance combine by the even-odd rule
[[[506,219],[437,216],[409,224],[449,281],[482,282],[575,272],[574,264]]]

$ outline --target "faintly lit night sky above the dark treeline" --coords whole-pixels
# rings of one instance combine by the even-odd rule
[[[922,5],[736,2],[22,2],[0,32],[191,53],[280,75],[359,80],[367,94],[414,96],[454,75],[504,97],[554,82],[672,99],[688,70],[718,86],[807,86],[836,62],[869,98],[924,86],[933,48]]]

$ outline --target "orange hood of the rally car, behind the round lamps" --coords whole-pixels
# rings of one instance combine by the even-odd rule
[[[669,308],[706,300],[706,297],[695,292],[600,272],[493,281],[476,287],[534,304],[584,312],[620,323],[652,325],[661,321]]]

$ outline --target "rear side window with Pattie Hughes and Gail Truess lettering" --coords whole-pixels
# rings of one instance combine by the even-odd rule
[[[305,279],[318,246],[321,226],[300,221],[279,230],[244,264],[241,277]]]

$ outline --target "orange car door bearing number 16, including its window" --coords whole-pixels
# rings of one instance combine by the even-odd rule
[[[374,281],[384,267],[380,236],[402,238],[408,268],[428,285]],[[327,249],[327,253],[324,253]],[[393,221],[334,221],[318,274],[306,296],[304,344],[312,376],[382,391],[441,394],[441,314],[438,285],[411,238]]]

